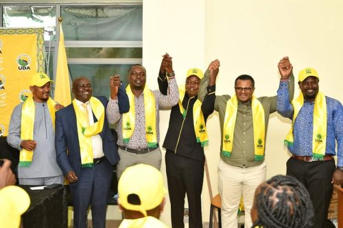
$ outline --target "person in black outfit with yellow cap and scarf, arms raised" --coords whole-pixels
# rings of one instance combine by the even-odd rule
[[[204,180],[204,146],[209,143],[206,120],[214,110],[215,92],[209,92],[204,102],[198,100],[200,80],[204,77],[198,68],[190,68],[185,87],[179,88],[178,104],[171,108],[169,127],[163,147],[166,149],[167,171],[172,227],[183,223],[185,194],[189,205],[189,228],[202,227],[201,192]],[[158,86],[167,94],[167,76],[161,65]]]

